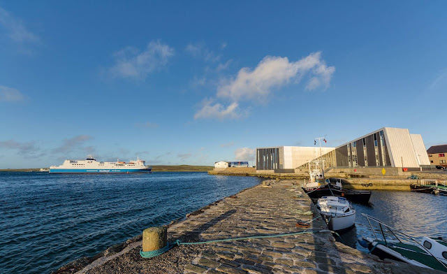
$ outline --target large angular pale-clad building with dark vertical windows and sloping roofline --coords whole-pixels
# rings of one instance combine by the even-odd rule
[[[294,172],[314,159],[325,168],[393,167],[406,170],[429,168],[430,160],[420,134],[408,129],[383,127],[338,147],[260,147],[256,171]]]

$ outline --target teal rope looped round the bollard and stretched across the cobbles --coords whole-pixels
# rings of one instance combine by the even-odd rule
[[[159,250],[154,251],[142,251],[140,250],[140,255],[143,258],[153,258],[156,256],[159,256],[171,248],[175,247],[175,245],[203,245],[205,243],[221,243],[221,242],[229,242],[233,240],[249,240],[249,239],[261,239],[261,238],[276,238],[276,237],[286,237],[286,236],[295,236],[300,234],[310,234],[310,233],[318,233],[318,232],[330,232],[328,229],[322,229],[317,231],[302,231],[302,232],[295,232],[295,233],[286,233],[286,234],[277,234],[277,235],[266,235],[266,236],[248,236],[248,237],[240,237],[240,238],[228,238],[228,239],[219,239],[219,240],[206,240],[204,242],[195,242],[195,243],[183,243],[180,240],[176,240],[175,243],[168,243],[166,247],[163,247]]]

